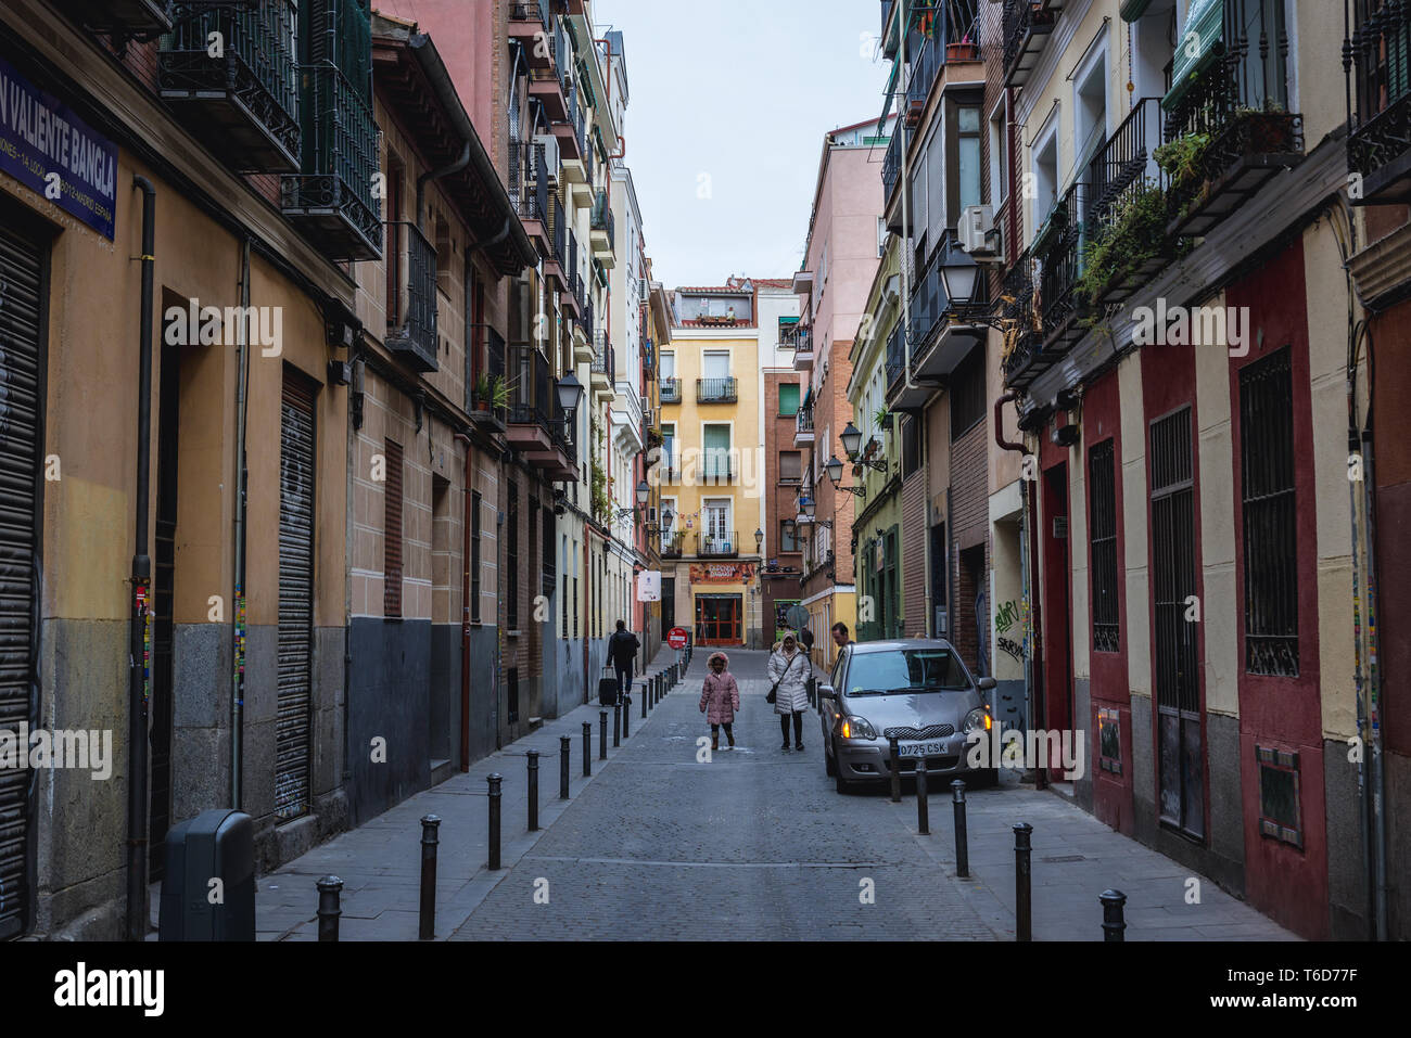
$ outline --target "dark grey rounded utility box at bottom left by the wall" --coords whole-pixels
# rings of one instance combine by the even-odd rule
[[[255,939],[255,841],[250,815],[202,811],[166,834],[162,941]]]

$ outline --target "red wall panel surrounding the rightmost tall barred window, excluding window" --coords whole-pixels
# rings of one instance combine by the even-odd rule
[[[1295,243],[1226,292],[1228,306],[1247,306],[1252,338],[1247,357],[1230,358],[1233,426],[1235,578],[1233,615],[1245,609],[1245,537],[1240,506],[1239,372],[1271,353],[1291,347],[1294,457],[1314,457],[1312,391],[1308,374],[1308,310],[1304,248]],[[1263,331],[1263,348],[1257,344]],[[1328,936],[1328,836],[1324,802],[1322,708],[1318,671],[1318,488],[1312,464],[1295,465],[1298,677],[1245,673],[1245,625],[1239,623],[1240,780],[1245,805],[1245,891],[1250,903],[1308,938]],[[1352,676],[1346,676],[1352,680]],[[1304,848],[1261,836],[1259,764],[1254,747],[1298,753]]]

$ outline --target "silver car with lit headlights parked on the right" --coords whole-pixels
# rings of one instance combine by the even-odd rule
[[[838,793],[892,777],[890,736],[897,738],[903,776],[926,759],[927,776],[992,784],[993,769],[967,766],[965,738],[993,725],[982,691],[955,647],[944,639],[862,642],[844,647],[831,684],[818,688],[823,755]]]

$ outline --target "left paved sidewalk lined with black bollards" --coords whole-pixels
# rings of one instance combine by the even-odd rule
[[[662,649],[648,666],[656,674],[676,661],[677,653]],[[643,678],[632,691],[632,723],[636,738],[642,721]],[[677,685],[674,695],[690,685]],[[698,687],[697,687],[698,694]],[[365,825],[334,836],[278,872],[261,876],[255,897],[258,941],[317,939],[319,891],[323,876],[343,880],[339,927],[341,941],[416,941],[420,924],[422,817],[442,819],[436,863],[436,939],[444,941],[480,905],[509,869],[539,841],[590,783],[628,746],[612,747],[612,711],[608,711],[608,759],[598,759],[595,702],[546,722],[539,731],[511,743],[470,771],[409,797]],[[593,777],[583,777],[583,725],[593,725]],[[646,722],[649,723],[649,721]],[[559,800],[559,738],[570,738],[569,800]],[[539,831],[526,832],[529,794],[526,752],[539,750]],[[504,776],[501,798],[501,870],[485,869],[490,849],[490,797],[487,777]]]

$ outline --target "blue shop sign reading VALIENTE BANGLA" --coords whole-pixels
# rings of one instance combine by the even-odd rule
[[[117,145],[0,58],[0,169],[109,241],[117,212]]]

